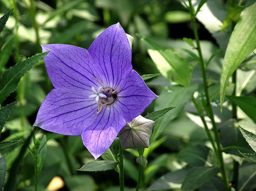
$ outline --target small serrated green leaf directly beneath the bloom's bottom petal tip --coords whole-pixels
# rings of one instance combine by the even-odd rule
[[[78,171],[89,171],[89,172],[97,172],[97,171],[109,171],[117,167],[118,162],[113,160],[98,160],[94,162],[89,162],[84,165]]]

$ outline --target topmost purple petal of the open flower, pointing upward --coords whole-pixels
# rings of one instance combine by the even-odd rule
[[[105,29],[90,45],[90,56],[96,62],[101,82],[108,87],[122,80],[131,66],[131,48],[129,40],[119,23]]]

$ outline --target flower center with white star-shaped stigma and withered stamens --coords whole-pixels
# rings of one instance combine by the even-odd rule
[[[96,78],[93,78],[96,79]],[[115,100],[117,100],[117,91],[122,90],[122,88],[118,89],[118,90],[114,90],[112,88],[105,88],[103,86],[103,84],[101,83],[100,80],[96,79],[101,86],[98,87],[98,90],[96,91],[94,87],[92,87],[92,91],[93,91],[93,95],[89,96],[89,99],[94,98],[95,97],[95,101],[96,104],[98,104],[98,109],[97,109],[97,113],[100,113],[102,108],[105,105],[109,105],[114,103]]]

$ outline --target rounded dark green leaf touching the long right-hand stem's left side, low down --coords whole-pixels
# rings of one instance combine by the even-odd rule
[[[204,145],[191,146],[181,150],[178,157],[192,166],[212,166],[212,164],[207,161],[209,150],[210,149]]]

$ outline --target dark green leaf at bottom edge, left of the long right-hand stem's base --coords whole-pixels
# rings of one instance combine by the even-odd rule
[[[191,191],[203,185],[210,178],[220,172],[220,168],[193,167],[182,182],[181,190]]]

